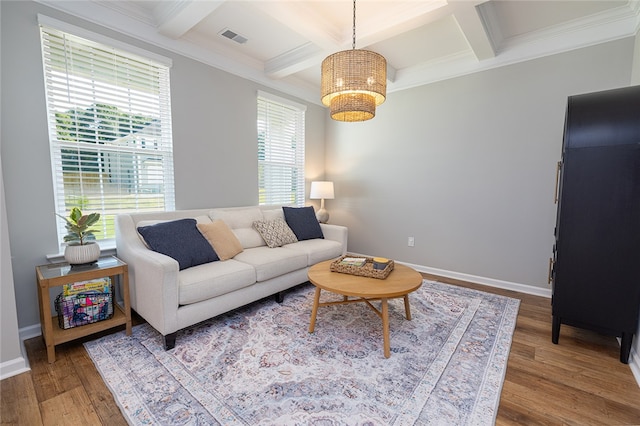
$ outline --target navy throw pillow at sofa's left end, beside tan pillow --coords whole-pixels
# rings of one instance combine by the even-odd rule
[[[141,226],[138,232],[151,250],[177,260],[180,270],[219,260],[211,244],[198,231],[195,219]]]

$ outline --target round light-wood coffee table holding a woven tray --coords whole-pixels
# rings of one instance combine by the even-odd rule
[[[320,262],[309,268],[309,281],[316,286],[316,293],[311,310],[311,323],[309,333],[313,333],[316,327],[316,316],[319,306],[344,305],[348,303],[364,302],[380,318],[382,318],[382,336],[384,341],[384,356],[391,356],[389,343],[389,299],[404,298],[404,310],[408,320],[411,320],[409,308],[409,293],[416,291],[422,285],[422,275],[408,266],[395,264],[393,271],[383,280],[377,278],[361,277],[357,275],[331,272],[329,266],[332,260]],[[341,294],[343,300],[334,302],[320,302],[321,290]],[[354,297],[350,299],[349,297]],[[379,300],[379,310],[371,304],[371,301]]]

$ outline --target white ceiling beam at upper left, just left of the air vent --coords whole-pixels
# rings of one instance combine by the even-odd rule
[[[209,16],[224,1],[175,0],[159,2],[154,9],[160,34],[179,39],[200,21]]]

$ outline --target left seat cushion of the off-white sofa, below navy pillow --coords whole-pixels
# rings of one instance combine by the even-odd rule
[[[178,273],[178,303],[197,303],[255,282],[255,269],[234,259],[199,265]]]

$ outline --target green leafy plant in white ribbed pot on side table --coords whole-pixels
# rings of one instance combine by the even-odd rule
[[[57,213],[56,213],[57,214]],[[58,214],[66,222],[67,235],[64,242],[67,247],[64,250],[64,258],[71,265],[93,263],[100,257],[100,246],[96,242],[94,232],[91,228],[100,220],[100,213],[82,214],[82,211],[74,207],[71,209],[69,217]]]

